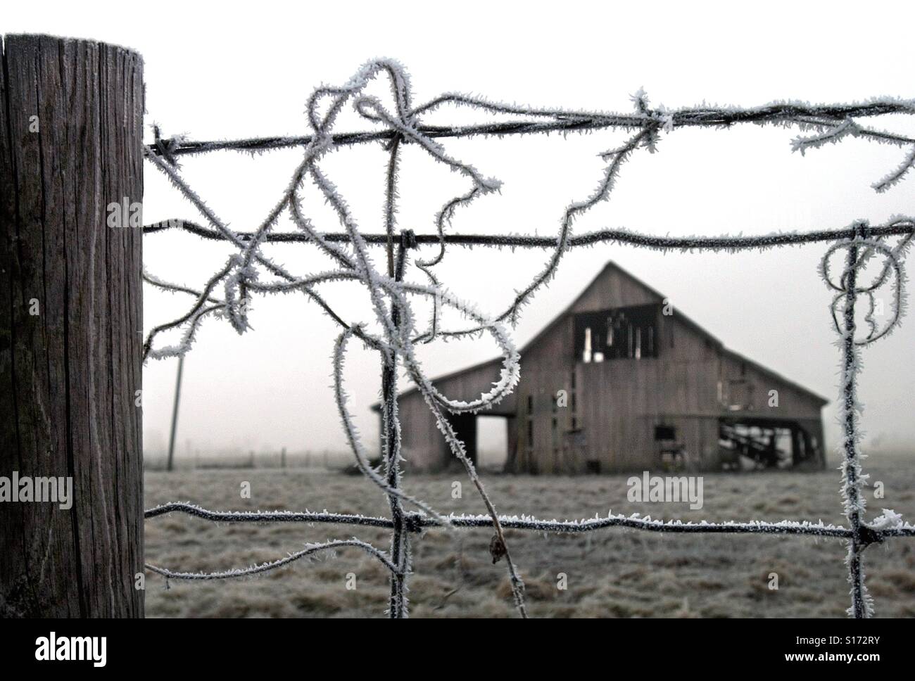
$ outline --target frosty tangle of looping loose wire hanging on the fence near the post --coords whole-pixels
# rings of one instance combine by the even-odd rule
[[[395,101],[394,112],[388,112],[381,101],[362,92],[369,82],[380,73],[385,73],[389,77]],[[509,394],[519,378],[518,352],[501,321],[479,313],[472,305],[458,300],[458,298],[438,286],[430,268],[442,260],[444,242],[442,242],[439,254],[435,258],[416,262],[419,269],[424,271],[430,280],[430,285],[416,285],[401,281],[400,274],[403,271],[404,254],[401,254],[400,272],[395,273],[392,271],[390,259],[387,273],[382,273],[375,266],[368,252],[367,244],[361,238],[356,220],[350,213],[346,201],[339,195],[336,186],[318,166],[318,160],[334,148],[331,132],[339,113],[347,101],[351,101],[354,110],[362,118],[371,122],[382,123],[382,125],[397,133],[397,136],[389,144],[391,162],[388,168],[388,192],[384,207],[385,224],[389,235],[393,232],[397,151],[401,141],[417,144],[425,149],[428,154],[431,154],[436,161],[450,166],[471,181],[471,187],[467,193],[450,199],[439,211],[436,217],[436,224],[441,235],[444,235],[444,223],[450,220],[458,207],[466,206],[476,197],[483,196],[499,188],[500,183],[497,180],[485,178],[473,166],[463,164],[452,158],[440,144],[417,130],[416,113],[411,110],[411,94],[406,74],[403,69],[391,61],[379,61],[369,64],[361,69],[347,85],[341,88],[320,88],[311,96],[307,103],[307,119],[314,131],[311,142],[307,144],[304,158],[296,168],[283,197],[268,214],[267,218],[264,219],[264,222],[253,234],[253,237],[249,239],[241,239],[221,219],[217,218],[210,208],[206,207],[203,201],[181,181],[175,168],[167,163],[167,159],[163,160],[155,154],[147,154],[150,160],[167,174],[185,196],[209,219],[210,223],[226,238],[230,239],[240,252],[232,255],[226,266],[207,283],[204,291],[199,294],[199,302],[201,303],[199,307],[177,320],[177,324],[190,323],[181,345],[159,350],[152,348],[152,339],[157,333],[177,324],[162,325],[156,327],[147,339],[145,354],[152,357],[183,354],[187,351],[200,321],[206,314],[210,313],[224,314],[236,331],[239,333],[244,332],[249,327],[248,305],[246,304],[249,291],[259,293],[302,291],[318,301],[328,313],[339,320],[339,316],[330,310],[329,305],[315,291],[315,287],[324,282],[361,282],[371,296],[374,315],[382,332],[374,335],[366,330],[365,325],[343,324],[345,328],[337,339],[333,356],[334,395],[347,439],[352,451],[355,453],[361,471],[391,497],[394,505],[399,505],[400,501],[416,505],[429,515],[436,517],[443,525],[450,525],[447,518],[438,514],[429,505],[410,495],[406,495],[398,488],[397,459],[399,458],[400,432],[398,420],[396,419],[396,404],[389,401],[386,401],[384,407],[388,412],[385,414],[387,417],[385,422],[391,425],[393,431],[385,431],[384,433],[385,439],[388,441],[387,456],[384,462],[385,471],[382,474],[371,467],[354,426],[347,405],[346,391],[343,388],[343,359],[347,344],[353,335],[358,336],[365,346],[381,353],[387,366],[393,367],[396,361],[400,359],[410,378],[414,380],[421,390],[429,409],[435,415],[438,428],[447,439],[451,452],[466,468],[468,475],[476,485],[490,512],[496,530],[494,541],[501,547],[505,547],[503,555],[507,559],[509,567],[512,592],[519,611],[524,615],[526,612],[523,601],[523,583],[506,547],[499,518],[484,491],[482,483],[479,481],[473,463],[467,456],[464,443],[458,440],[455,431],[445,417],[446,410],[451,413],[476,412],[498,403],[505,395]],[[325,111],[319,113],[322,105],[324,105]],[[300,190],[306,176],[318,187],[329,205],[336,211],[341,225],[350,237],[350,249],[324,239],[311,220],[303,214]],[[274,227],[277,218],[286,209],[296,227],[304,231],[321,250],[339,264],[338,270],[297,277],[264,256],[264,253],[261,252],[261,246],[264,244],[268,232]],[[277,275],[282,281],[259,281],[258,265],[262,266],[266,271]],[[224,299],[212,299],[211,293],[220,282],[223,282]],[[414,313],[409,300],[410,296],[427,297],[433,301],[433,320],[429,331],[426,333],[417,335]],[[212,304],[204,305],[202,304],[204,302]],[[470,401],[448,399],[432,385],[415,357],[414,344],[417,341],[428,342],[435,338],[437,318],[441,314],[440,308],[442,306],[456,309],[474,325],[473,328],[468,329],[466,332],[458,332],[458,334],[452,335],[485,332],[492,336],[500,348],[502,356],[500,376],[494,382],[493,388],[481,394],[478,399]],[[342,323],[342,320],[339,321]],[[393,510],[396,512],[398,508],[399,506]],[[401,564],[397,566],[397,569],[405,573],[409,570],[408,551],[404,550],[401,553]],[[403,600],[403,596],[400,597],[400,600]]]

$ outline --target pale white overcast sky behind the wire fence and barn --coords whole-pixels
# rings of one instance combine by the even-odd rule
[[[381,56],[409,69],[415,101],[458,90],[492,100],[630,112],[630,94],[640,87],[652,103],[667,107],[915,97],[915,10],[901,3],[828,9],[765,3],[739,10],[733,3],[633,4],[625,10],[572,3],[564,11],[531,3],[512,10],[492,2],[98,5],[11,4],[4,8],[2,30],[136,49],[145,59],[147,122],[158,122],[166,135],[192,139],[305,134],[304,103],[311,90],[342,84],[367,59]],[[437,114],[436,122],[450,120],[468,119],[464,112]],[[886,126],[915,132],[910,121]],[[365,124],[348,118],[339,130],[347,128]],[[611,200],[576,222],[576,231],[755,234],[839,228],[856,218],[879,223],[915,212],[915,177],[882,195],[870,188],[899,164],[903,150],[849,140],[802,157],[791,153],[796,134],[749,126],[675,131],[662,139],[658,154],[633,157]],[[452,230],[554,234],[565,206],[597,185],[604,167],[597,154],[621,139],[620,133],[601,132],[565,140],[446,141],[451,154],[504,182],[501,195],[460,210]],[[187,159],[182,172],[233,229],[253,229],[280,197],[300,155],[223,152]],[[365,231],[383,229],[386,160],[381,146],[371,145],[333,154],[323,166]],[[145,222],[202,221],[152,166],[145,173]],[[432,231],[437,208],[462,190],[465,180],[407,147],[399,226]],[[318,226],[338,230],[315,195],[306,196],[306,212]],[[529,340],[606,261],[617,261],[727,346],[831,399],[824,417],[835,445],[839,355],[829,322],[831,296],[817,274],[824,250],[823,244],[739,255],[662,255],[618,244],[573,250],[552,285],[526,308],[514,337],[519,344]],[[147,269],[195,287],[229,252],[184,234],[152,235],[144,242]],[[382,251],[375,252],[381,258]],[[308,246],[274,248],[271,254],[303,275],[327,266]],[[437,271],[454,293],[496,313],[545,258],[539,251],[454,249]],[[417,274],[408,271],[421,281]],[[326,293],[348,319],[371,318],[358,289],[338,284]],[[147,288],[145,327],[173,318],[187,303]],[[343,450],[329,388],[338,328],[302,295],[255,298],[251,323],[255,331],[243,336],[218,320],[203,326],[185,363],[179,455],[188,440],[201,449]],[[864,351],[860,391],[867,444],[915,442],[913,329],[905,320],[897,333]],[[436,376],[494,355],[489,341],[477,340],[438,343],[421,358]],[[147,450],[166,446],[176,367],[177,360],[145,367]],[[351,404],[372,449],[377,423],[368,408],[378,398],[378,367],[377,356],[357,351],[347,368]]]

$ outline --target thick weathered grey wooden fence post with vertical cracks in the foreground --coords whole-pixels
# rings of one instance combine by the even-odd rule
[[[2,617],[143,616],[143,112],[135,52],[4,37]]]

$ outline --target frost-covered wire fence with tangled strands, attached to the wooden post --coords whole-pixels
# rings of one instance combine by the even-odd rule
[[[389,105],[366,91],[372,80],[386,79],[391,86]],[[856,137],[879,144],[892,144],[905,151],[900,165],[874,183],[877,192],[898,184],[915,165],[915,139],[863,124],[893,115],[915,114],[915,101],[875,99],[851,104],[811,105],[800,102],[773,103],[755,108],[695,107],[666,109],[651,107],[643,91],[632,97],[635,111],[630,114],[538,109],[533,107],[487,101],[457,93],[446,93],[431,101],[414,105],[413,92],[404,68],[389,59],[372,61],[364,65],[348,83],[340,87],[321,87],[307,101],[307,120],[311,134],[298,137],[265,137],[234,141],[198,142],[184,137],[162,137],[154,126],[155,140],[145,148],[145,158],[161,171],[178,191],[197,208],[201,223],[184,219],[169,219],[147,225],[145,233],[154,234],[167,229],[179,229],[203,239],[228,242],[236,250],[223,267],[213,273],[199,288],[165,282],[144,271],[145,281],[157,288],[185,293],[194,302],[188,312],[177,319],[156,325],[144,344],[144,359],[183,356],[191,348],[199,325],[207,317],[228,321],[238,333],[250,328],[248,324],[249,301],[253,293],[304,293],[328,314],[339,326],[340,334],[334,345],[333,380],[334,398],[340,420],[355,461],[371,483],[387,495],[390,517],[360,516],[312,512],[221,512],[197,505],[172,503],[159,505],[145,512],[147,518],[168,513],[184,513],[214,522],[253,523],[328,523],[341,526],[382,527],[391,530],[391,548],[383,551],[360,539],[331,540],[308,544],[287,557],[249,568],[227,569],[218,572],[181,572],[147,564],[146,568],[167,579],[221,580],[253,575],[280,568],[298,559],[306,558],[333,548],[360,548],[377,559],[391,572],[391,596],[388,613],[393,618],[406,617],[408,601],[407,581],[412,574],[411,538],[428,528],[446,528],[455,531],[468,527],[489,527],[494,534],[490,541],[493,561],[505,560],[515,607],[522,617],[527,616],[522,577],[511,558],[506,541],[506,529],[533,530],[537,532],[576,533],[590,532],[608,527],[628,527],[651,532],[673,533],[729,533],[777,534],[813,537],[838,537],[847,543],[846,565],[850,584],[851,606],[848,613],[856,618],[873,613],[872,599],[865,586],[863,567],[864,550],[871,544],[881,543],[889,537],[913,537],[915,526],[904,522],[889,510],[867,522],[865,518],[864,487],[867,475],[862,472],[860,452],[860,405],[856,398],[856,378],[861,370],[860,348],[888,335],[899,325],[905,310],[906,275],[904,256],[913,234],[915,218],[898,216],[886,223],[870,225],[857,221],[850,226],[807,232],[779,232],[760,236],[720,237],[661,237],[626,229],[603,229],[573,234],[573,224],[580,215],[602,201],[608,200],[619,176],[620,167],[633,154],[647,150],[657,151],[662,136],[683,128],[721,129],[742,124],[775,125],[793,128],[799,135],[791,142],[793,151],[804,154],[824,144],[834,144]],[[375,129],[361,132],[336,130],[340,112],[351,105],[366,124]],[[501,116],[508,120],[480,122],[469,125],[428,125],[422,121],[429,114],[446,106],[463,107],[484,114]],[[516,134],[576,133],[599,130],[627,133],[626,141],[599,154],[606,162],[594,189],[585,199],[565,208],[559,229],[554,237],[525,236],[517,234],[483,235],[450,232],[451,220],[456,212],[475,199],[499,190],[501,183],[486,177],[473,166],[450,155],[437,140],[471,136]],[[335,150],[354,144],[381,144],[388,154],[385,173],[385,198],[383,203],[383,232],[368,233],[360,229],[350,212],[346,199],[320,167],[320,161]],[[400,149],[404,144],[414,144],[436,162],[466,178],[465,192],[450,198],[437,212],[435,233],[416,234],[412,229],[397,227],[398,166]],[[296,166],[288,185],[275,206],[261,224],[252,231],[234,231],[210,209],[188,185],[180,172],[179,159],[192,154],[218,151],[262,153],[274,149],[301,147],[304,157]],[[318,188],[333,208],[342,228],[340,231],[318,229],[303,211],[302,187],[310,181]],[[278,219],[287,214],[296,231],[274,231]],[[892,239],[897,238],[893,243]],[[306,274],[294,273],[285,265],[274,262],[264,254],[268,243],[310,244],[327,255],[336,269]],[[529,516],[504,516],[487,494],[473,463],[468,458],[464,442],[452,428],[448,414],[477,413],[487,410],[506,397],[519,379],[521,357],[515,348],[509,328],[518,321],[525,304],[534,293],[549,282],[565,253],[573,248],[603,243],[624,243],[635,247],[664,251],[713,250],[736,252],[738,250],[766,250],[789,245],[813,242],[830,244],[820,263],[823,280],[834,292],[832,318],[841,347],[841,420],[843,425],[843,465],[841,494],[844,501],[848,527],[824,525],[822,522],[783,520],[779,523],[759,521],[723,523],[661,521],[641,518],[638,515],[608,515],[587,520],[546,521]],[[409,282],[405,271],[412,250],[421,246],[437,247],[432,257],[414,257],[412,264],[421,272],[425,282]],[[544,268],[515,295],[507,309],[500,314],[480,312],[472,303],[459,300],[448,293],[439,282],[434,268],[446,256],[449,247],[525,248],[549,251]],[[383,247],[384,263],[379,266],[371,257],[371,247]],[[845,254],[841,274],[831,273],[831,257]],[[877,274],[866,271],[867,265],[877,262]],[[264,276],[268,278],[264,281]],[[866,277],[873,277],[864,281]],[[375,327],[368,323],[349,324],[333,309],[318,288],[335,282],[358,282],[371,296]],[[875,292],[888,285],[892,291],[891,313],[888,322],[878,324]],[[217,294],[217,290],[221,294]],[[864,322],[867,328],[859,333],[856,324],[856,303],[867,299]],[[419,299],[431,303],[432,313],[421,324],[414,314],[412,301]],[[466,328],[440,328],[443,310],[458,311],[469,320]],[[180,329],[178,344],[156,346],[156,336],[170,329]],[[491,335],[501,348],[501,369],[493,388],[478,399],[450,399],[439,392],[425,375],[414,350],[419,344],[436,338],[456,338]],[[357,432],[348,406],[344,387],[343,363],[347,348],[356,339],[363,346],[377,352],[381,361],[382,378],[382,463],[371,466],[369,457]],[[443,515],[431,505],[407,493],[402,479],[401,431],[397,413],[397,369],[403,367],[419,389],[425,404],[435,417],[438,429],[446,439],[450,451],[463,465],[468,478],[475,485],[486,514],[479,516]],[[407,510],[413,508],[414,510]]]

